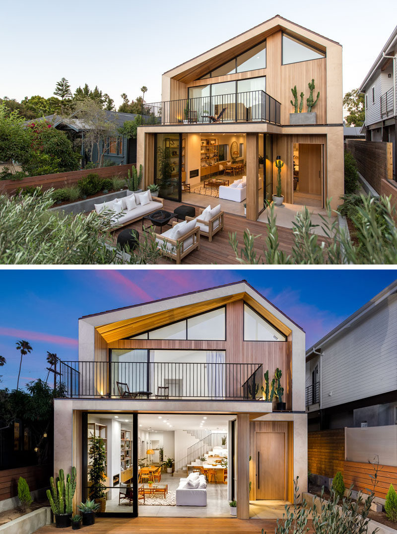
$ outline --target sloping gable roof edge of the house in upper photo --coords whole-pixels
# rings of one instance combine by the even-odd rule
[[[274,22],[273,25],[271,24],[272,21]],[[211,48],[211,49],[207,50],[206,52],[203,52],[203,53],[199,54],[198,56],[196,56],[194,58],[191,58],[191,59],[189,59],[187,61],[184,61],[183,63],[181,63],[180,65],[177,65],[176,67],[173,67],[172,69],[166,70],[166,72],[163,75],[170,75],[170,77],[173,77],[173,75],[172,75],[173,71],[175,71],[176,69],[179,69],[183,65],[188,65],[190,62],[196,61],[199,58],[201,58],[203,56],[206,56],[206,54],[209,54],[209,56],[211,56],[211,58],[213,58],[214,56],[217,55],[217,53],[219,53],[219,49],[221,47],[223,47],[225,44],[228,44],[228,43],[231,44],[235,40],[240,40],[240,38],[242,38],[244,36],[247,36],[247,34],[249,34],[249,33],[254,32],[254,33],[256,33],[256,35],[260,36],[261,35],[261,30],[264,31],[266,29],[266,35],[263,37],[263,38],[266,38],[266,36],[271,35],[272,33],[275,33],[280,29],[286,29],[283,26],[283,22],[284,23],[286,22],[288,25],[293,25],[295,28],[297,28],[297,30],[298,29],[303,29],[303,30],[305,30],[305,32],[309,32],[313,36],[320,37],[321,39],[325,39],[326,41],[329,41],[330,43],[337,44],[337,45],[341,46],[340,43],[338,43],[336,41],[332,41],[332,39],[330,39],[328,37],[324,37],[323,35],[318,34],[316,32],[313,32],[312,30],[310,30],[308,28],[305,28],[304,26],[300,26],[299,24],[296,24],[295,22],[293,22],[293,21],[291,21],[289,19],[285,19],[284,17],[281,17],[281,15],[275,15],[274,17],[272,17],[272,18],[270,18],[268,20],[265,20],[264,22],[261,22],[260,24],[254,26],[253,28],[250,28],[250,29],[246,30],[245,32],[243,32],[241,34],[236,35],[235,37],[232,37],[232,38],[228,39],[227,41],[224,41],[223,43],[214,46],[214,48]],[[269,26],[269,28],[266,28],[266,26]],[[247,36],[247,39],[246,39],[246,42],[248,43],[247,44],[247,48],[251,48],[251,46],[254,46],[255,44],[258,44],[259,42],[261,42],[263,40],[263,38],[260,37],[258,39],[257,43],[250,43],[251,38],[248,38],[248,36]],[[196,61],[196,63],[197,63],[197,61]]]

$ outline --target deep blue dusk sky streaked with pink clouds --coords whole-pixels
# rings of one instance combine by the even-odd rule
[[[77,319],[246,279],[306,331],[311,346],[397,278],[396,270],[1,270],[0,387],[17,384],[18,339],[24,356],[21,384],[46,377],[46,351],[77,359]]]

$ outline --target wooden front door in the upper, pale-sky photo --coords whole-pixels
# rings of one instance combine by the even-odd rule
[[[323,194],[322,145],[299,143],[299,193]]]

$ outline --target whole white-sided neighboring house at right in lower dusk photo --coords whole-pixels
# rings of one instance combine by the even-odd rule
[[[397,423],[397,281],[306,351],[309,431]]]

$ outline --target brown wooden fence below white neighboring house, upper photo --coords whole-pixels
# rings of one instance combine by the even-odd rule
[[[346,147],[353,154],[360,174],[380,194],[382,180],[393,178],[393,144],[347,139]]]

